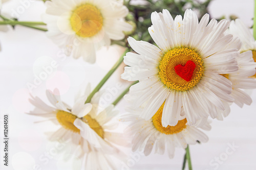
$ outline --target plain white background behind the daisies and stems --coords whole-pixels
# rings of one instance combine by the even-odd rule
[[[2,14],[12,15],[13,10],[22,6],[23,1],[10,1],[3,6]],[[211,17],[228,17],[235,14],[240,17],[248,27],[252,25],[253,1],[214,0],[209,6]],[[24,8],[25,9],[25,8]],[[45,6],[40,1],[31,1],[26,4],[26,9],[19,14],[19,20],[40,21],[40,15],[44,13]],[[34,117],[25,112],[33,109],[28,102],[28,83],[40,72],[42,66],[47,66],[55,60],[58,67],[54,73],[31,90],[33,95],[38,95],[47,101],[45,90],[58,87],[63,101],[72,105],[74,94],[78,89],[91,82],[94,87],[106,71],[118,59],[122,53],[120,47],[110,47],[109,53],[103,49],[98,53],[97,62],[88,64],[82,59],[75,60],[71,57],[63,57],[60,49],[46,37],[45,32],[17,26],[15,30],[7,33],[0,32],[0,119],[4,114],[9,114],[9,166],[3,166],[3,125],[1,123],[1,169],[26,169],[31,170],[35,164],[41,169],[78,169],[80,161],[75,163],[65,162],[59,159],[61,153],[48,162],[40,160],[40,157],[54,147],[54,143],[46,139],[45,132],[54,131],[53,124],[34,123],[40,121],[40,117]],[[110,55],[111,54],[111,55]],[[115,54],[115,55],[113,55]],[[113,77],[104,85],[105,88],[116,86],[117,82],[123,84],[122,90],[128,85],[120,79],[123,65],[115,72]],[[113,100],[118,94],[113,96]],[[209,141],[203,144],[190,145],[190,154],[194,169],[256,169],[256,93],[251,94],[253,103],[244,106],[243,109],[232,105],[230,115],[224,121],[212,121],[212,130],[205,132]],[[110,101],[111,102],[111,101]],[[125,102],[121,101],[117,107],[123,113]],[[231,155],[225,157],[229,144],[234,143],[237,148]],[[68,147],[68,146],[66,146]],[[229,149],[229,151],[231,151]],[[71,152],[72,153],[72,152]],[[130,169],[181,169],[184,150],[177,149],[174,159],[168,159],[167,155],[139,156]],[[215,158],[225,159],[216,163]],[[211,165],[210,162],[214,163]],[[133,162],[132,162],[133,163]],[[36,169],[36,168],[34,168]]]

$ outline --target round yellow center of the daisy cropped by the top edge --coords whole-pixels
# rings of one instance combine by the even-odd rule
[[[78,36],[92,37],[102,29],[103,18],[97,7],[82,4],[73,10],[70,23]]]

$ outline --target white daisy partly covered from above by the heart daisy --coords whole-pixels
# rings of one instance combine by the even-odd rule
[[[145,156],[151,154],[155,146],[155,153],[163,155],[166,151],[170,159],[174,157],[175,148],[186,148],[187,144],[196,144],[197,141],[207,142],[208,137],[200,131],[210,130],[207,118],[201,119],[196,126],[189,126],[187,119],[181,119],[175,126],[162,126],[162,112],[164,104],[158,109],[154,116],[145,120],[139,117],[142,109],[130,110],[129,114],[121,116],[122,122],[131,122],[125,133],[132,136],[132,151],[143,151]],[[183,109],[182,109],[183,110]]]

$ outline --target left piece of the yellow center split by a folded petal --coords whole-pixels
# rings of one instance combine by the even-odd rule
[[[74,125],[75,119],[77,118],[75,115],[66,111],[58,110],[56,117],[59,124],[65,129],[71,130],[75,133],[80,132],[80,130]]]

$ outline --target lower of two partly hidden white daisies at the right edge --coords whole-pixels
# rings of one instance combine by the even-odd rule
[[[241,41],[238,37],[236,37],[233,38],[225,48],[235,47],[239,50],[241,46]],[[246,51],[239,54],[236,57],[236,60],[238,62],[239,69],[236,72],[223,74],[222,76],[232,82],[232,92],[230,95],[234,99],[233,103],[242,108],[244,104],[250,105],[252,103],[250,96],[245,91],[243,91],[243,89],[256,88],[256,80],[251,78],[251,76],[255,74],[256,63],[252,58],[251,51]],[[217,119],[219,120],[223,120],[223,116],[226,117],[230,112],[229,105],[231,105],[231,103],[223,102],[223,104],[226,109],[218,112]]]

